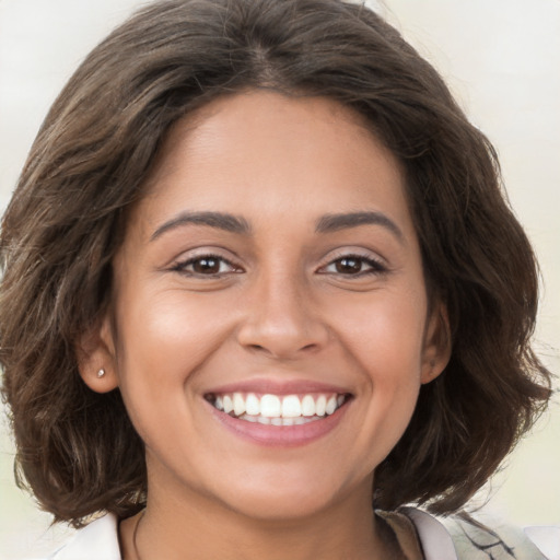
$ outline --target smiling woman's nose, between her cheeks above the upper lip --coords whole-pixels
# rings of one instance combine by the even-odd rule
[[[278,360],[317,352],[329,340],[313,294],[294,276],[270,275],[250,292],[237,340],[244,348]]]

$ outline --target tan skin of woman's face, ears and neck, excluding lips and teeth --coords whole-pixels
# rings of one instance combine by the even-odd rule
[[[145,442],[148,508],[138,527],[121,523],[125,557],[390,558],[374,469],[448,359],[398,162],[334,101],[247,92],[177,122],[145,188],[81,365],[94,390],[119,387]],[[207,211],[250,233],[173,223]],[[325,215],[358,211],[386,220],[317,232]],[[218,273],[185,265],[209,254]],[[257,377],[352,398],[322,438],[260,445],[205,399]]]

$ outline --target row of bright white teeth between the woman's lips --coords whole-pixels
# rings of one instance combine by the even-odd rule
[[[350,399],[348,393],[292,395],[209,393],[205,398],[217,410],[246,422],[266,425],[301,425],[334,415]]]

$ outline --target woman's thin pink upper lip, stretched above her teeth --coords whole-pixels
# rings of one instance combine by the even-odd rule
[[[329,383],[320,383],[311,380],[272,380],[272,378],[254,378],[245,380],[226,385],[212,387],[206,392],[209,394],[226,394],[226,393],[256,393],[262,395],[298,395],[310,393],[337,393],[346,395],[351,393],[348,387],[332,385]]]

